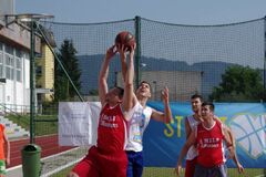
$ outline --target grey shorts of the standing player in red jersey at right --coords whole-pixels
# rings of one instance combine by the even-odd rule
[[[194,177],[227,177],[224,164],[215,167],[203,167],[196,164]]]

